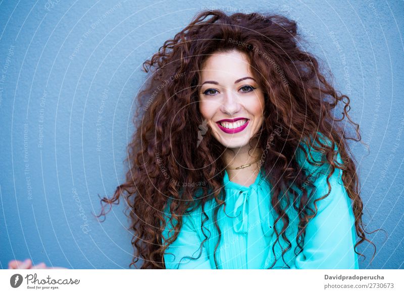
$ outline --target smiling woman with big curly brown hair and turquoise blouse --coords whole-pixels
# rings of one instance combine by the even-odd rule
[[[130,265],[359,268],[370,241],[339,122],[355,141],[359,126],[296,31],[279,15],[203,11],[143,64],[126,183],[102,199],[131,210]]]

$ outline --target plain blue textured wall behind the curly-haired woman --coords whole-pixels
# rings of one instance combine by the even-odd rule
[[[0,4],[0,267],[11,259],[128,268],[131,233],[100,196],[124,180],[141,64],[206,8],[280,12],[351,98],[352,144],[378,251],[361,268],[404,268],[404,5],[399,1],[14,1]]]

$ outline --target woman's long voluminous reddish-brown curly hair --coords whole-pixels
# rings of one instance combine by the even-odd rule
[[[251,70],[265,94],[263,125],[251,140],[258,138],[259,147],[267,150],[261,164],[273,187],[271,205],[279,216],[275,224],[281,219],[283,223],[280,230],[274,226],[276,241],[282,238],[289,245],[282,252],[282,258],[291,248],[286,236],[290,219],[281,205],[282,195],[289,193],[288,205],[293,205],[298,213],[296,244],[299,252],[304,246],[306,226],[317,213],[317,206],[313,210],[308,205],[311,174],[298,164],[298,149],[311,164],[327,164],[329,189],[328,179],[334,169],[342,169],[342,181],[353,201],[359,237],[355,252],[364,256],[357,251],[364,241],[370,242],[376,252],[376,246],[366,238],[368,232],[362,221],[363,203],[355,159],[347,145],[348,139],[362,142],[359,125],[348,115],[349,98],[336,91],[326,75],[320,73],[316,58],[300,48],[301,41],[296,22],[281,15],[226,15],[221,10],[206,10],[199,12],[188,26],[143,63],[143,70],[149,74],[136,96],[137,110],[133,119],[136,130],[125,160],[129,168],[126,182],[117,187],[111,199],[101,199],[104,205],[98,215],[105,216],[107,205],[111,207],[113,203],[119,203],[121,196],[124,198],[126,208],[130,209],[130,229],[134,232],[131,242],[134,255],[129,267],[137,268],[140,259],[141,269],[164,269],[164,252],[176,240],[182,227],[182,216],[195,207],[201,207],[206,217],[211,216],[204,210],[208,201],[216,204],[211,217],[219,233],[218,248],[221,230],[216,220],[226,197],[223,189],[225,163],[221,157],[225,147],[213,137],[199,112],[199,71],[214,52],[234,49],[248,55]],[[333,111],[341,104],[343,109],[339,113],[342,117],[338,119]],[[354,127],[354,138],[345,131],[347,123]],[[279,126],[286,131],[278,132]],[[331,145],[324,143],[319,133]],[[320,162],[309,158],[310,152],[301,147],[303,140],[321,151]],[[271,148],[266,148],[269,143]],[[334,161],[334,146],[337,146],[342,164]],[[202,195],[196,198],[197,190]],[[168,223],[167,209],[170,223],[175,223],[175,233],[164,245],[162,233]],[[216,249],[214,260],[218,268]]]

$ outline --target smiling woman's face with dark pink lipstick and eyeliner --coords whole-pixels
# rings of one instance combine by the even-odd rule
[[[215,138],[227,148],[241,148],[261,128],[264,93],[240,51],[218,52],[201,70],[199,111]]]

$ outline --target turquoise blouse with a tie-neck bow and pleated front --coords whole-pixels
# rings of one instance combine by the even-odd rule
[[[339,153],[338,159],[340,161]],[[305,165],[308,167],[307,162]],[[314,166],[310,168],[313,170]],[[318,172],[319,177],[314,181],[315,198],[328,193],[328,173]],[[292,247],[282,259],[282,248],[286,249],[288,244],[280,237],[275,245],[275,254],[272,252],[276,241],[273,228],[276,213],[270,209],[271,184],[266,180],[264,169],[249,187],[231,182],[226,171],[223,179],[226,205],[220,208],[217,217],[222,231],[216,253],[218,268],[265,269],[272,265],[276,256],[274,269],[358,269],[358,256],[354,251],[355,217],[341,175],[342,170],[335,168],[329,179],[331,193],[317,202],[318,213],[306,227],[303,251],[297,256],[294,254],[294,249],[296,253],[299,251],[295,240],[297,212],[291,206],[287,209],[290,223],[286,235]],[[183,216],[178,238],[165,252],[167,269],[216,268],[213,253],[218,232],[213,223],[214,202],[208,202],[205,208],[209,219],[204,222],[203,229],[201,221],[205,217],[200,207]],[[278,232],[281,231],[282,221],[276,225]],[[172,227],[167,224],[163,237],[167,239],[173,233]],[[201,245],[206,236],[209,238]]]

